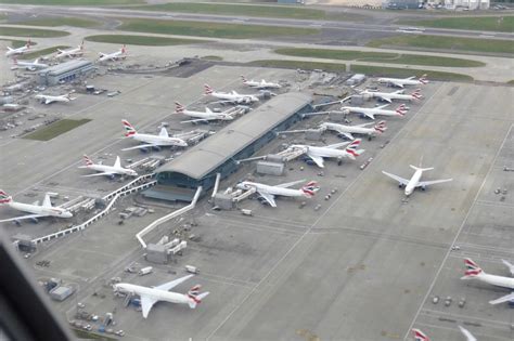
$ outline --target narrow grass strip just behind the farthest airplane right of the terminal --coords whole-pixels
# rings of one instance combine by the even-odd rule
[[[429,79],[433,80],[447,80],[447,81],[473,81],[473,77],[462,74],[454,73],[441,73],[434,71],[428,69],[408,69],[408,68],[397,68],[397,67],[382,67],[382,66],[369,66],[369,65],[358,65],[351,64],[350,69],[352,73],[364,74],[367,76],[373,77],[411,77],[416,76],[421,77],[424,74],[428,75]]]

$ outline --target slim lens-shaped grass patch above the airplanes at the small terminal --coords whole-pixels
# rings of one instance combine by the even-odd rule
[[[180,39],[152,36],[128,36],[128,35],[99,35],[85,38],[88,41],[108,42],[108,43],[130,43],[131,45],[145,47],[168,47],[190,43],[203,43],[206,40],[200,39]]]

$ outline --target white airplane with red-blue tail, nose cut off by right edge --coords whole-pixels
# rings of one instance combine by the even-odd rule
[[[502,262],[503,264],[505,264],[506,267],[509,267],[509,271],[511,272],[511,276],[514,276],[514,265],[509,263],[505,260],[502,260]],[[480,281],[490,284],[492,286],[514,290],[514,278],[486,274],[486,272],[484,272],[480,268],[480,266],[478,266],[473,260],[468,258],[464,260],[464,264],[466,264],[467,270],[461,279],[478,279]],[[489,303],[499,304],[499,303],[504,303],[509,301],[514,302],[514,291],[499,299],[489,301]]]

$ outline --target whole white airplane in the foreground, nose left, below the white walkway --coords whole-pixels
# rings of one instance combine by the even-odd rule
[[[113,285],[113,288],[115,292],[138,294],[141,298],[141,309],[143,317],[146,318],[152,306],[158,301],[188,304],[191,309],[195,309],[196,305],[209,294],[208,291],[200,293],[200,285],[195,285],[194,287],[192,287],[185,294],[169,291],[170,289],[175,288],[176,286],[190,279],[194,275],[189,275],[152,288],[137,286],[128,283],[115,284]]]

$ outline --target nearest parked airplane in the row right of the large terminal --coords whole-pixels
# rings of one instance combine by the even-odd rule
[[[307,197],[311,198],[320,189],[316,181],[310,181],[299,189],[290,188],[291,186],[303,183],[305,180],[294,181],[280,185],[266,185],[250,181],[243,181],[236,185],[243,191],[257,192],[271,207],[277,207],[275,196],[284,197]]]

